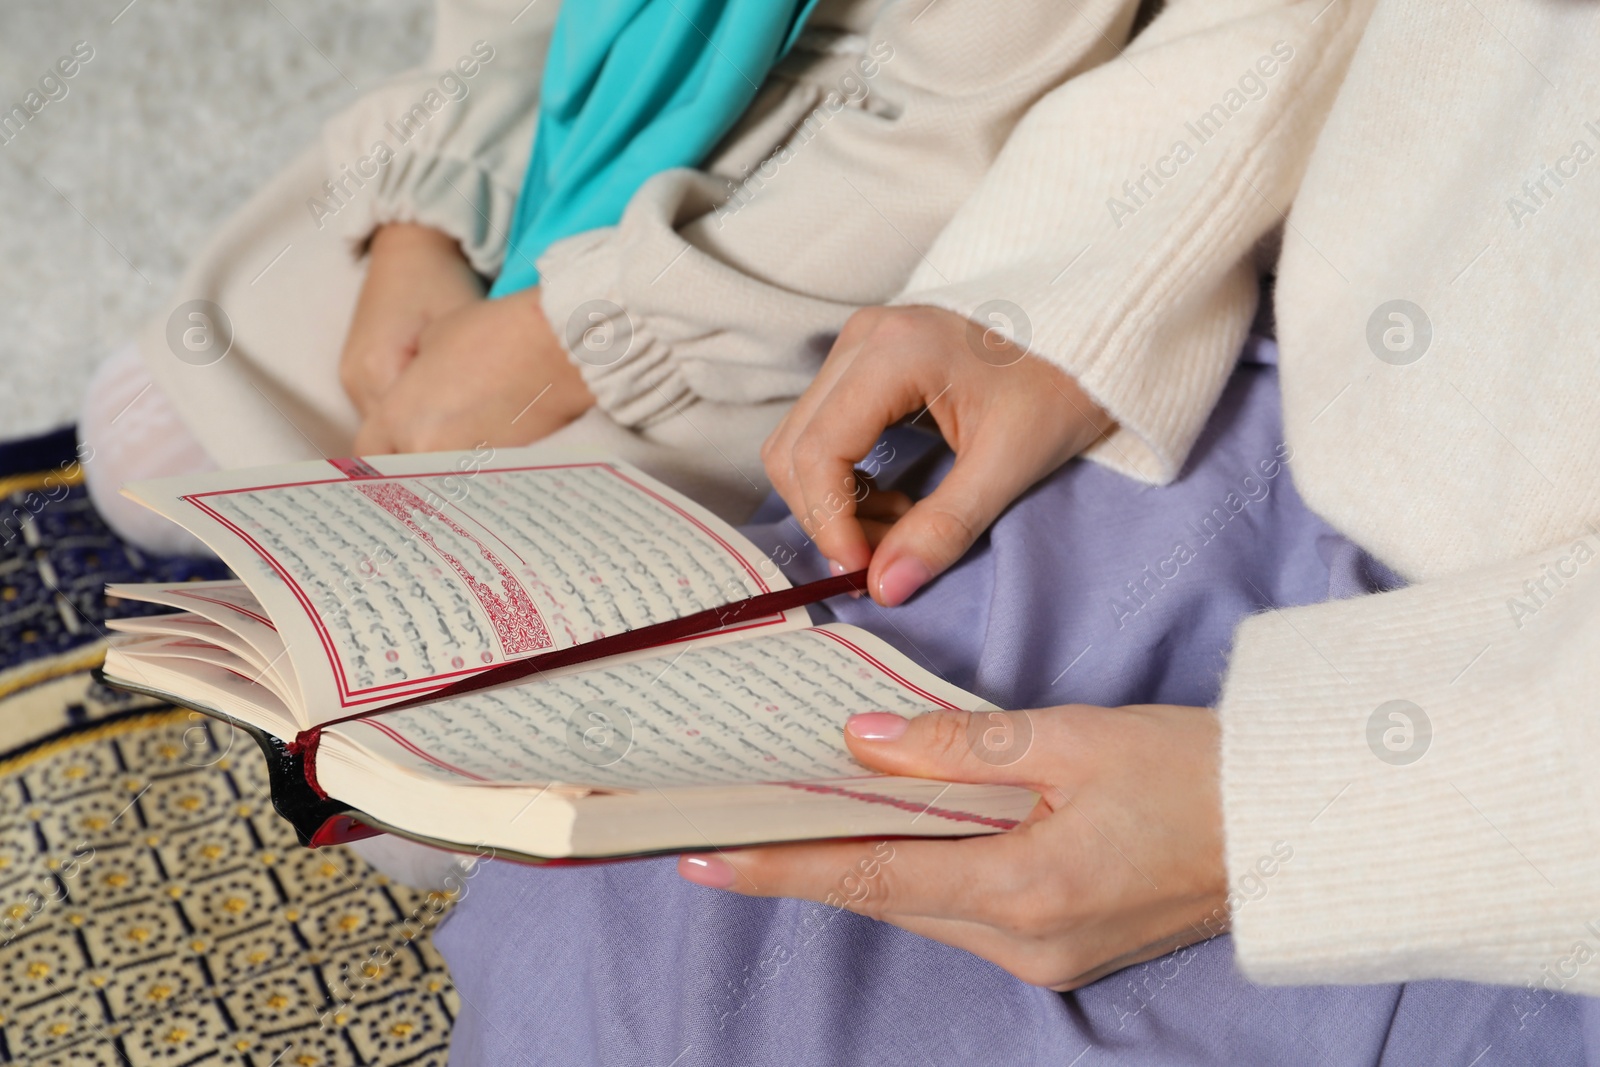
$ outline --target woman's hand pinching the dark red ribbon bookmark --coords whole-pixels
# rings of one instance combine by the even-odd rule
[[[853,467],[906,416],[936,424],[955,450],[955,466],[915,506],[874,502],[858,514]],[[1077,382],[995,330],[938,307],[869,307],[845,323],[816,381],[763,445],[762,461],[834,571],[870,560],[869,592],[898,605],[1110,424]],[[880,531],[861,522],[867,510],[901,514],[877,550],[870,544]]]

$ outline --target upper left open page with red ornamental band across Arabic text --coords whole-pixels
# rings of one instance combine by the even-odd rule
[[[787,587],[731,526],[621,462],[379,456],[130,486],[250,585],[318,723],[509,659]],[[803,611],[752,627],[805,625]]]

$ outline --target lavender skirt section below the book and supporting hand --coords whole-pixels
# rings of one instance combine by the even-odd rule
[[[1464,982],[1256,987],[1227,937],[1062,997],[850,912],[714,896],[670,859],[486,864],[438,944],[462,1065],[1584,1062],[1570,998],[1523,1027],[1518,992]]]

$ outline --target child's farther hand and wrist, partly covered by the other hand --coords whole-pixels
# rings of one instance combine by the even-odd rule
[[[371,261],[339,358],[339,381],[363,418],[416,357],[434,320],[483,299],[483,280],[442,230],[392,222],[373,235]]]

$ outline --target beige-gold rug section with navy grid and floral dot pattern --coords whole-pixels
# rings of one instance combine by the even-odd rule
[[[429,937],[440,901],[302,848],[261,753],[190,766],[192,726],[144,715],[0,763],[13,1059],[123,1062],[115,1040],[136,1064],[443,1062],[458,997]]]

